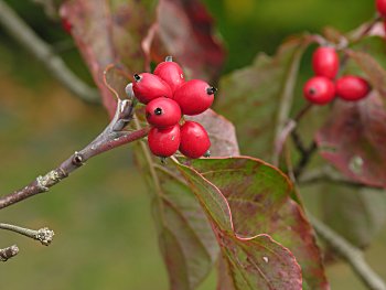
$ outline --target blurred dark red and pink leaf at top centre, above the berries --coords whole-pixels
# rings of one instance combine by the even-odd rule
[[[213,19],[205,7],[197,0],[160,0],[157,17],[154,31],[142,43],[148,54],[156,62],[172,55],[187,78],[216,79],[225,51],[213,33]]]

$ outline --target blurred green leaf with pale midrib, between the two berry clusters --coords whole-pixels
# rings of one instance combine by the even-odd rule
[[[283,43],[274,57],[260,53],[249,67],[224,76],[216,108],[236,126],[243,154],[277,159],[275,143],[289,118],[309,35]]]

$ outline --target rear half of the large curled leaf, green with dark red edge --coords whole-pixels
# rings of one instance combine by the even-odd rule
[[[285,175],[249,158],[196,160],[191,165],[225,196],[237,235],[270,235],[301,265],[304,289],[329,288],[312,227],[290,198]]]

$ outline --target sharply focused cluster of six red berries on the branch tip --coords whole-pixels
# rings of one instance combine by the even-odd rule
[[[216,88],[201,79],[185,82],[181,66],[168,56],[153,74],[136,74],[132,90],[146,105],[148,144],[154,155],[167,158],[178,150],[189,158],[208,155],[211,140],[204,127],[182,117],[208,109]]]

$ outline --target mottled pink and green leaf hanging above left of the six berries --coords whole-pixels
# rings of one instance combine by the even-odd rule
[[[153,2],[74,0],[61,7],[61,17],[72,25],[72,35],[110,116],[116,101],[104,84],[104,69],[111,63],[124,64],[131,72],[143,69],[140,42],[156,17]]]

